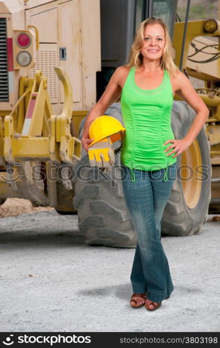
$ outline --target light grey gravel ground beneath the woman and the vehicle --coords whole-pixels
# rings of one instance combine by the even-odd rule
[[[1,331],[220,331],[218,221],[162,238],[175,289],[152,313],[129,306],[134,248],[86,245],[76,215],[10,216],[0,231]]]

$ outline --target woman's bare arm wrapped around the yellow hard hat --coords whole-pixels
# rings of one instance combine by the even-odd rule
[[[125,74],[128,72],[127,68],[119,67],[113,73],[106,90],[100,97],[100,100],[93,106],[91,111],[88,113],[84,125],[84,133],[82,135],[81,143],[86,151],[88,151],[88,145],[93,141],[89,139],[88,129],[98,116],[102,116],[104,112],[120,97],[122,81],[125,79]]]

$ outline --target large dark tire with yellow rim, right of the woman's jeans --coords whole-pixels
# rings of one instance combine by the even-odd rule
[[[191,127],[194,111],[185,102],[173,102],[172,129],[175,139],[182,139]],[[196,141],[182,155],[177,157],[178,175],[162,217],[163,235],[194,235],[205,223],[211,200],[212,166],[210,164],[210,144],[205,127]],[[189,165],[194,173],[196,165],[203,165],[205,180],[182,181],[181,166]],[[194,175],[195,177],[196,175]],[[198,176],[198,175],[197,175]]]

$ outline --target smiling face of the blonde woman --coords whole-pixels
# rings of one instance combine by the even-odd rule
[[[160,59],[165,46],[165,32],[160,24],[148,24],[143,32],[141,54],[150,61]]]

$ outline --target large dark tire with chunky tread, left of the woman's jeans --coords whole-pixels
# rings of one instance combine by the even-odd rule
[[[106,114],[123,122],[118,103],[113,104]],[[79,139],[84,122],[85,118],[79,126]],[[116,154],[116,166],[109,173],[103,173],[97,167],[91,168],[84,149],[81,155],[73,174],[73,205],[77,209],[79,230],[84,232],[86,243],[134,248],[136,232],[127,210],[122,184],[117,180],[120,177],[120,153]]]

